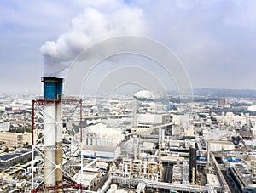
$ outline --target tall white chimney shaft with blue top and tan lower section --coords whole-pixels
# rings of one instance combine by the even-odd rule
[[[44,82],[44,185],[62,184],[62,85],[63,78],[43,77]]]

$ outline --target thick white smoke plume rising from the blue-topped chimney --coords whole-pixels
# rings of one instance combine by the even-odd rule
[[[98,6],[98,8],[96,8]],[[109,7],[110,6],[110,7]],[[85,48],[108,37],[143,35],[146,25],[143,11],[120,1],[87,6],[70,23],[70,31],[40,48],[44,55],[44,76],[63,77],[65,69]]]

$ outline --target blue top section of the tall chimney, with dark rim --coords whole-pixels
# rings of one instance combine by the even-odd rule
[[[42,77],[41,81],[44,82],[45,100],[62,99],[62,88],[64,78]]]

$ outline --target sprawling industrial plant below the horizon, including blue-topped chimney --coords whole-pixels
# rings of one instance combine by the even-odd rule
[[[254,99],[77,99],[63,78],[42,82],[31,138],[1,122],[3,192],[256,192]]]

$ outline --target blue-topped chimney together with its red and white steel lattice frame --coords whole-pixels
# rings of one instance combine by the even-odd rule
[[[65,164],[68,164],[69,156],[73,156],[81,148],[82,141],[82,100],[74,98],[64,98],[62,94],[62,78],[44,77],[44,97],[32,101],[32,192],[63,192],[68,189],[83,191],[82,180],[75,182],[71,175],[65,171]],[[72,113],[62,114],[62,107],[73,106]],[[79,111],[78,111],[79,109]],[[43,111],[43,113],[42,113]],[[79,119],[79,146],[70,154],[66,155],[64,151],[63,140],[63,121],[68,120],[77,112]],[[44,116],[44,123],[37,122],[37,115]],[[38,126],[44,125],[41,129]],[[42,132],[44,131],[44,132]],[[41,133],[41,139],[38,134]],[[73,131],[73,133],[75,133]],[[70,147],[69,147],[70,148]],[[67,148],[65,148],[67,150]],[[64,152],[62,154],[62,152]],[[35,179],[34,173],[36,164],[35,156],[44,158],[44,179]],[[63,160],[63,158],[65,158]],[[81,156],[81,165],[83,162]],[[38,171],[37,171],[38,172]],[[37,176],[38,177],[38,176]]]

